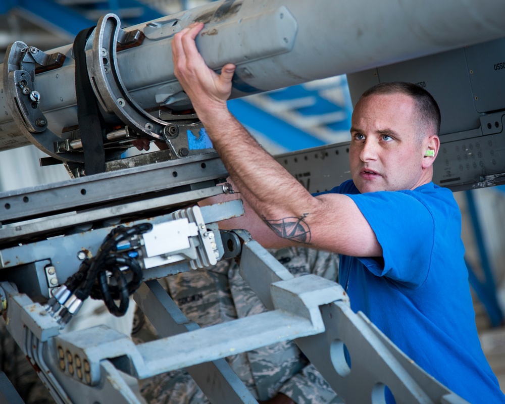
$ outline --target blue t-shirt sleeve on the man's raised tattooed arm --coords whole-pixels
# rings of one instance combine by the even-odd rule
[[[428,276],[434,242],[434,220],[414,191],[381,191],[348,195],[360,209],[382,247],[382,260],[360,258],[376,276],[419,287]]]

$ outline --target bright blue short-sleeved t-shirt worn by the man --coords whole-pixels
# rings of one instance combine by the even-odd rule
[[[351,309],[467,401],[505,402],[477,335],[452,192],[430,182],[361,194],[351,180],[329,192],[355,201],[383,250],[376,259],[340,257]]]

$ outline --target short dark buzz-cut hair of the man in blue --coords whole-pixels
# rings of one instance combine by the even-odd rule
[[[440,132],[440,109],[435,98],[424,88],[417,84],[407,83],[405,81],[392,81],[388,83],[379,83],[366,90],[362,98],[373,94],[405,94],[414,99],[418,110],[418,119],[424,127],[432,128],[434,134]]]

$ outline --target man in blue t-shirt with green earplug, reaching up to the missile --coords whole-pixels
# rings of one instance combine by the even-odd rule
[[[246,202],[245,217],[226,226],[265,246],[338,252],[355,312],[466,400],[505,402],[475,327],[460,212],[432,182],[440,146],[433,97],[409,83],[365,92],[352,114],[352,180],[311,195],[228,111],[235,66],[218,75],[205,65],[194,44],[201,28],[176,34],[172,51],[175,74]]]

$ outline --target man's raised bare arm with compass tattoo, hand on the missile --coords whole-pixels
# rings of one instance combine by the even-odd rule
[[[348,255],[380,256],[375,234],[354,201],[339,194],[313,197],[229,112],[226,102],[235,66],[225,65],[221,74],[207,67],[194,42],[203,27],[195,23],[175,34],[174,72],[241,196],[266,224],[264,229],[286,240],[274,245],[301,243]]]

